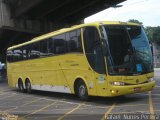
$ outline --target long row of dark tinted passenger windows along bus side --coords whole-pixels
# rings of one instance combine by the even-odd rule
[[[14,62],[69,52],[82,52],[80,29],[10,50],[7,53],[7,60]]]

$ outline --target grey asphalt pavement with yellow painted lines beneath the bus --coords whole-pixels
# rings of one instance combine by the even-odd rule
[[[91,97],[85,102],[70,94],[21,93],[2,82],[0,120],[159,120],[160,70],[155,70],[155,79],[157,86],[152,92],[114,98]]]

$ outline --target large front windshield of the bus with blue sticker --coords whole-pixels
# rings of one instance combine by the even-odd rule
[[[153,71],[152,52],[141,26],[104,26],[109,74]],[[104,32],[103,32],[104,34]]]

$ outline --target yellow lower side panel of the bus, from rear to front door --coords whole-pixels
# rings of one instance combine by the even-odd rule
[[[29,78],[32,85],[69,86],[74,93],[74,81],[82,78],[86,85],[93,83],[94,74],[88,69],[88,63],[83,54],[66,54],[42,59],[28,60],[8,64],[9,86],[16,87],[18,79],[23,83]],[[89,89],[91,95],[96,95],[96,86]]]

